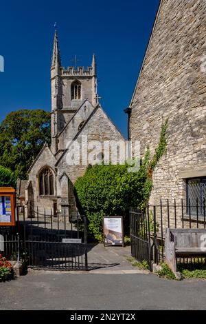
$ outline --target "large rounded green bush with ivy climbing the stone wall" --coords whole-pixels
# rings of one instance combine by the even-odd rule
[[[102,220],[104,216],[124,216],[125,234],[128,234],[128,210],[130,206],[144,207],[152,189],[149,169],[163,155],[168,121],[162,125],[161,137],[155,156],[150,161],[146,151],[137,172],[128,172],[130,165],[94,165],[87,168],[84,176],[74,186],[80,212],[89,220],[89,233],[102,241]]]

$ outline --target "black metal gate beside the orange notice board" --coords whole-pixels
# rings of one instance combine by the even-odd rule
[[[31,207],[32,208],[32,207]],[[51,270],[87,270],[87,219],[59,212],[48,215],[32,208],[16,209],[16,226],[0,227],[1,252],[9,260],[22,260],[29,267]],[[2,237],[1,236],[1,237]]]

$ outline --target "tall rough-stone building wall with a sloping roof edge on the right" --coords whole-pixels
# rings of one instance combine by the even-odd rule
[[[168,147],[152,175],[150,204],[206,196],[206,1],[162,0],[128,107],[130,138],[151,155],[168,118]]]

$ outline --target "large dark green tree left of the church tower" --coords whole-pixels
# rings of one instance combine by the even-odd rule
[[[44,110],[11,112],[0,125],[0,165],[16,177],[27,179],[27,170],[43,148],[50,143],[50,113]]]

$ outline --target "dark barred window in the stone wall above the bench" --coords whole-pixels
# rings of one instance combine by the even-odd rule
[[[206,178],[187,179],[187,214],[204,214],[206,204]]]

